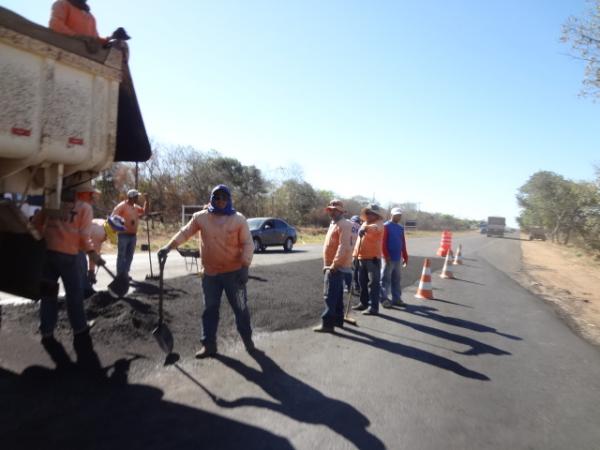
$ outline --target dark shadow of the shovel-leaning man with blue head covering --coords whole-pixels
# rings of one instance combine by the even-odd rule
[[[262,351],[252,352],[251,356],[260,366],[260,370],[225,355],[217,355],[216,358],[259,386],[275,401],[258,397],[242,397],[228,401],[211,396],[218,406],[223,408],[254,406],[270,409],[299,422],[325,425],[352,442],[357,448],[369,450],[385,448],[377,436],[367,431],[370,425],[369,419],[352,405],[327,397],[302,380],[291,376]]]

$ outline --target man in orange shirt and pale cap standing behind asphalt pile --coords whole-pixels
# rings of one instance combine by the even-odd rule
[[[127,191],[127,200],[119,203],[112,212],[113,216],[121,216],[125,220],[125,230],[119,233],[117,243],[117,276],[129,276],[131,261],[137,243],[137,229],[140,217],[148,214],[150,203],[148,194],[144,194],[144,206],[137,204],[140,197],[139,191],[130,189]]]

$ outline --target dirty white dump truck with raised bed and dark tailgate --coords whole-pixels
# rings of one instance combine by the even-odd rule
[[[43,195],[51,213],[74,183],[151,156],[116,44],[94,48],[0,7],[0,291],[40,296],[45,244],[18,199]]]

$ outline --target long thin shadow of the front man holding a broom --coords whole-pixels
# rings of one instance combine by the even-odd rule
[[[451,359],[444,358],[443,356],[436,355],[425,350],[421,350],[416,347],[410,347],[408,345],[401,344],[399,342],[388,341],[387,339],[378,338],[368,333],[364,333],[355,328],[344,327],[344,330],[351,334],[338,334],[338,336],[344,339],[349,339],[354,342],[361,344],[370,345],[380,350],[385,350],[396,355],[404,356],[405,358],[414,359],[421,361],[425,364],[431,364],[440,369],[454,372],[456,375],[460,375],[465,378],[472,378],[474,380],[490,381],[490,378],[483,374],[476,372],[471,369],[467,369],[465,366],[452,361]]]

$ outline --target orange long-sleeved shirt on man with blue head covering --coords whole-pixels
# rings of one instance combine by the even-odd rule
[[[254,255],[252,235],[246,218],[240,214],[221,215],[199,211],[175,235],[180,246],[194,234],[200,234],[200,255],[204,273],[218,275],[250,266]]]

